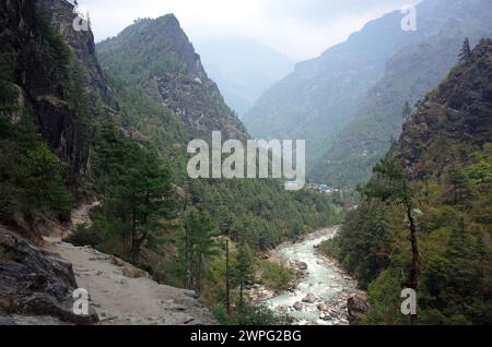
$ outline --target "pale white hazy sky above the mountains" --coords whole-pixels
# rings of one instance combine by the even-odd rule
[[[115,36],[137,17],[176,14],[194,39],[242,35],[295,60],[320,55],[364,23],[420,0],[79,0],[96,40]]]

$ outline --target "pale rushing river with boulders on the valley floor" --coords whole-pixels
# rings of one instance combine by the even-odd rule
[[[274,311],[294,318],[296,324],[345,325],[349,323],[347,300],[356,292],[356,282],[335,262],[318,254],[316,249],[323,241],[333,238],[337,231],[338,228],[321,230],[305,241],[279,250],[289,261],[307,264],[308,275],[294,290],[285,291],[266,302]],[[312,297],[311,300],[308,296]]]

